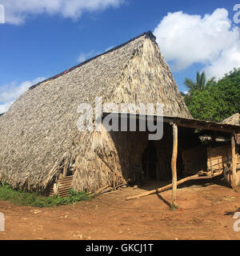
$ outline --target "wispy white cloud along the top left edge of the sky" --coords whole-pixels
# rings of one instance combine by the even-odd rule
[[[61,14],[64,18],[80,18],[85,11],[118,7],[125,0],[2,0],[6,23],[20,25],[30,15]]]

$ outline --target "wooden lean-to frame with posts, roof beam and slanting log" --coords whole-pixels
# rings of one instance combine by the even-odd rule
[[[112,118],[135,118],[136,120],[151,120],[156,121],[158,116],[157,115],[147,115],[146,114],[129,114],[129,113],[102,113],[102,118],[105,118],[107,115],[111,114]],[[200,121],[195,119],[187,119],[187,118],[175,118],[175,117],[166,117],[163,116],[163,122],[168,122],[173,127],[173,152],[171,158],[171,170],[172,170],[172,183],[168,186],[164,186],[162,188],[151,190],[143,194],[138,194],[137,196],[126,198],[126,200],[140,198],[142,196],[146,196],[149,194],[160,193],[163,190],[167,190],[172,188],[172,206],[176,205],[176,198],[177,198],[177,186],[182,184],[183,182],[193,180],[193,179],[204,179],[204,178],[214,178],[218,175],[223,173],[223,170],[219,170],[218,173],[211,172],[210,174],[195,174],[193,176],[183,178],[182,180],[177,182],[177,157],[178,157],[178,126],[186,127],[186,128],[194,128],[198,130],[205,130],[205,131],[215,131],[220,134],[225,133],[229,134],[231,138],[231,148],[232,148],[232,184],[231,186],[235,188],[237,186],[236,181],[236,142],[235,142],[235,134],[240,134],[240,126],[233,126],[229,124],[222,124],[217,122],[206,122]]]

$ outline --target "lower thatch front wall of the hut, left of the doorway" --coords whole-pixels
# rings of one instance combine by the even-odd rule
[[[144,132],[102,131],[92,137],[92,150],[78,154],[74,171],[75,190],[93,190],[94,170],[96,188],[121,184],[131,178],[132,166],[141,165],[147,144]]]

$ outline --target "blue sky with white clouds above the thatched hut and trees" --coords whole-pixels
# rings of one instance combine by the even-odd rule
[[[233,8],[240,0],[69,0],[68,6],[64,2],[0,0],[6,19],[0,24],[0,112],[41,78],[148,30],[157,36],[181,91],[186,90],[184,78],[195,79],[198,70],[206,68],[208,76],[220,78],[232,66],[240,66],[239,24],[233,22]],[[172,14],[166,17],[168,13]],[[210,16],[204,19],[206,14]],[[212,28],[214,24],[218,26]]]

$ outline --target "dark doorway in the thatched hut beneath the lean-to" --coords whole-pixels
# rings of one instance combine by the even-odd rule
[[[156,179],[157,151],[154,146],[154,141],[148,141],[146,150],[142,154],[142,169],[144,178]]]

